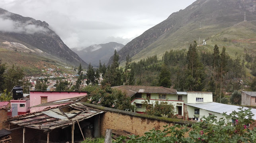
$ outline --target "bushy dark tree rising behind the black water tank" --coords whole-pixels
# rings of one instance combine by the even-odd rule
[[[14,65],[12,65],[12,68],[8,69],[7,72],[4,74],[4,78],[5,89],[7,89],[7,92],[11,92],[14,86],[23,84],[23,69],[19,66],[14,67]]]

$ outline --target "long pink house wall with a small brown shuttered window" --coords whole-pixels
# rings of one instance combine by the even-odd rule
[[[87,95],[87,92],[39,92],[30,91],[30,107],[47,103],[50,101],[58,101],[62,99],[68,99],[73,97],[79,97]],[[43,107],[31,108],[30,112],[36,112],[43,110]]]

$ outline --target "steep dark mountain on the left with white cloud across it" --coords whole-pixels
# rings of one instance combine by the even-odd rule
[[[88,66],[64,44],[45,21],[23,17],[0,8],[0,22],[0,46],[2,48],[23,48],[29,53],[60,60],[74,67],[80,63],[83,67]],[[7,43],[3,44],[3,42]],[[11,42],[18,44],[14,45]],[[20,45],[23,46],[19,47]]]

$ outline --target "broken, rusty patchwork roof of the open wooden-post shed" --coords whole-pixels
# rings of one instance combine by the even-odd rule
[[[68,111],[68,112],[64,112]],[[64,126],[70,126],[73,122],[82,121],[91,118],[104,111],[91,109],[81,103],[73,103],[58,108],[50,108],[41,112],[32,112],[22,116],[8,119],[11,124],[16,124],[21,127],[34,128],[38,130],[53,130]]]

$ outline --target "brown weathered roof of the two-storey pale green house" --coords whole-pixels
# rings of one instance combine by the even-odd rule
[[[176,94],[177,90],[172,88],[165,88],[162,86],[113,86],[111,88],[117,88],[122,92],[126,92],[127,96],[132,97],[136,93],[165,93]]]

